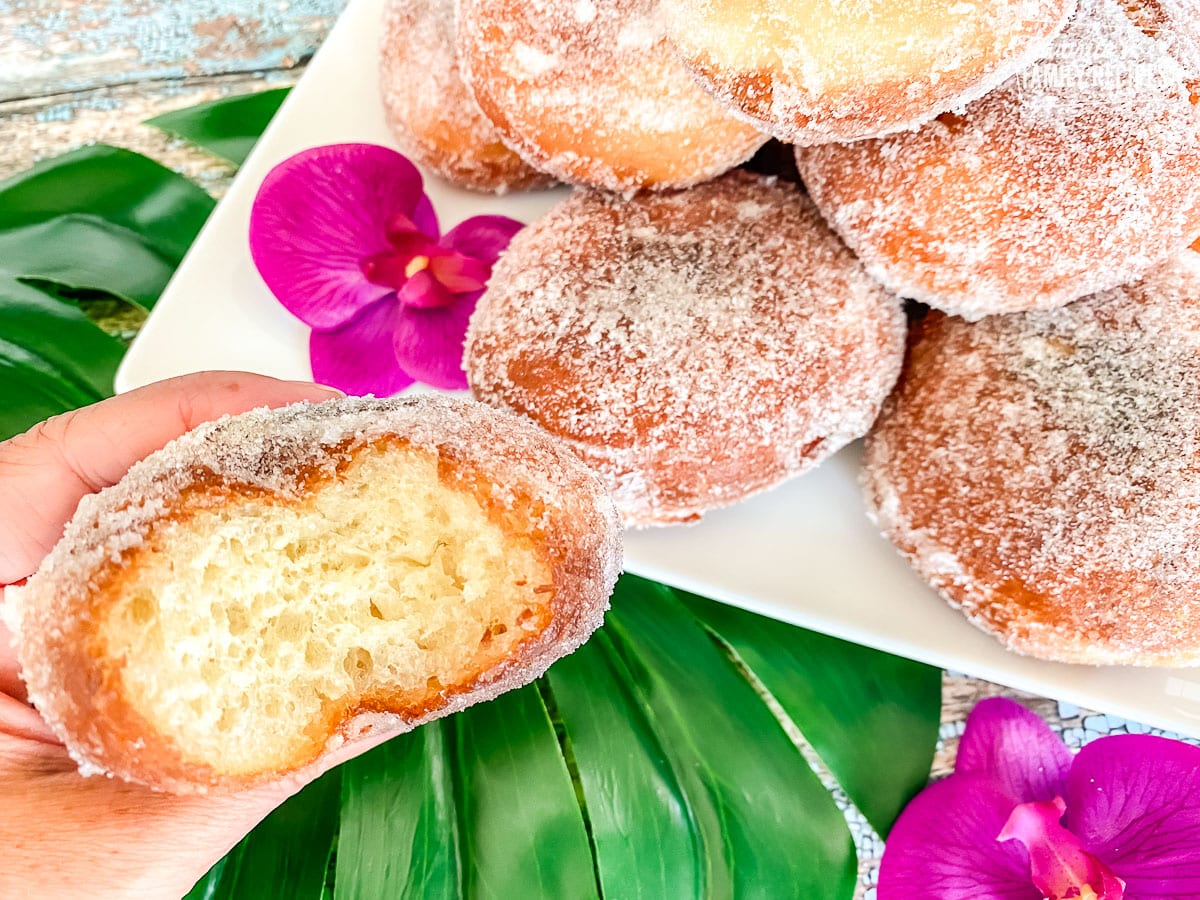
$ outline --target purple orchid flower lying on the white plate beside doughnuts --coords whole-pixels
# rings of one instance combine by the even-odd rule
[[[412,162],[374,144],[334,144],[263,180],[250,252],[271,293],[312,328],[313,378],[388,396],[414,382],[467,386],[467,322],[521,228],[475,216],[442,235]]]

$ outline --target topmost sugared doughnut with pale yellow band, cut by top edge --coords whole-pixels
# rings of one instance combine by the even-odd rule
[[[714,95],[800,146],[905,131],[1045,53],[1075,0],[662,0]]]

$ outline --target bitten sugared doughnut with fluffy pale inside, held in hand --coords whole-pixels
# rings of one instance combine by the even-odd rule
[[[230,791],[530,682],[620,565],[596,478],[466,400],[203,425],[88,497],[6,604],[85,773]]]

